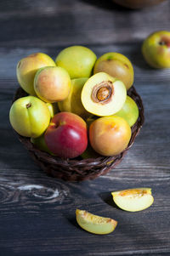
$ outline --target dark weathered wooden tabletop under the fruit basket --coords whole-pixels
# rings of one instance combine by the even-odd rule
[[[170,255],[170,70],[151,69],[140,50],[151,32],[169,27],[170,1],[140,10],[100,0],[0,2],[0,255]],[[8,121],[17,62],[34,52],[55,58],[72,44],[132,60],[145,116],[123,161],[80,183],[48,177]],[[144,186],[155,197],[150,208],[128,213],[114,206],[111,191]],[[82,230],[77,208],[116,219],[116,230],[105,236]]]

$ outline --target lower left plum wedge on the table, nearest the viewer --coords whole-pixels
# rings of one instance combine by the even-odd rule
[[[76,211],[77,223],[83,230],[87,230],[90,233],[105,235],[115,230],[117,221],[111,218],[104,218],[87,211]]]

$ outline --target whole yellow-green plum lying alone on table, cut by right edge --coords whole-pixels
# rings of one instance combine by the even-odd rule
[[[154,68],[170,68],[170,31],[156,31],[142,45],[146,62]]]

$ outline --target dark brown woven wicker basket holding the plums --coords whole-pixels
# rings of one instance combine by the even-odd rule
[[[81,159],[77,157],[75,159],[62,159],[56,156],[51,156],[44,151],[37,149],[35,145],[31,143],[30,138],[26,138],[17,134],[20,142],[25,145],[26,149],[30,152],[31,157],[50,176],[70,180],[80,181],[85,179],[95,179],[100,175],[108,173],[111,169],[122,161],[123,156],[127,153],[129,148],[133,145],[133,141],[139,134],[139,130],[144,123],[144,107],[142,100],[137,94],[134,87],[127,91],[127,94],[133,98],[139,107],[139,118],[132,127],[132,136],[125,151],[116,156],[99,156],[97,158]],[[22,88],[18,88],[14,94],[14,100],[20,97],[26,96],[26,92]]]

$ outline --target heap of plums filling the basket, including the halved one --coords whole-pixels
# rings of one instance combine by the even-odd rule
[[[123,54],[97,60],[82,46],[63,49],[55,62],[47,54],[31,54],[19,61],[17,78],[28,95],[14,101],[9,120],[40,150],[93,158],[127,148],[139,108],[127,96],[133,65]]]

